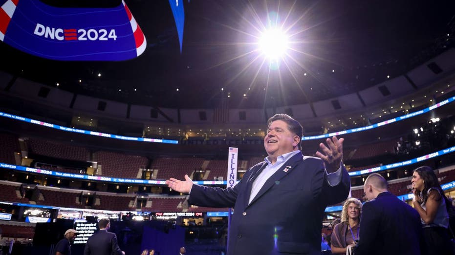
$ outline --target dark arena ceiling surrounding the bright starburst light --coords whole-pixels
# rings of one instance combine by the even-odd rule
[[[0,42],[1,70],[132,104],[262,108],[367,88],[453,47],[455,38],[454,1],[184,0],[180,52],[170,1],[125,2],[147,39],[138,58],[55,61]],[[278,69],[256,51],[273,12],[293,42]]]

